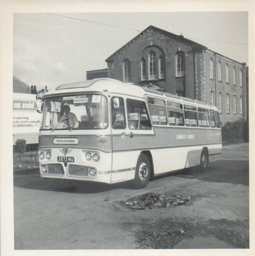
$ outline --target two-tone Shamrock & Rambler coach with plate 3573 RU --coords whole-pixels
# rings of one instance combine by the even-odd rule
[[[222,151],[215,106],[110,78],[67,83],[44,95],[42,178],[144,188],[150,178],[199,166]]]

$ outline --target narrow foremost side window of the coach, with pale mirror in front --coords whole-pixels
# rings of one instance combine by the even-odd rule
[[[115,102],[118,102],[116,104]],[[126,128],[126,117],[124,100],[120,97],[111,98],[111,109],[112,109],[112,128],[113,129],[125,129]]]

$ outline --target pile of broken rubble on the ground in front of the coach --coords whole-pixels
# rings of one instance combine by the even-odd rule
[[[178,195],[165,197],[163,194],[146,193],[135,198],[122,201],[126,207],[135,210],[154,209],[155,207],[170,207],[186,204],[191,197],[182,197]]]

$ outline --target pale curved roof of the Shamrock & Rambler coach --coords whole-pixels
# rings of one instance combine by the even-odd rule
[[[180,103],[186,104],[195,104],[197,106],[211,108],[217,110],[215,106],[210,104],[206,104],[199,100],[193,100],[186,97],[180,97],[175,94],[171,94],[168,92],[161,92],[149,88],[144,88],[141,86],[134,85],[133,83],[129,82],[121,82],[116,79],[111,78],[96,78],[92,80],[85,80],[80,82],[73,82],[73,83],[65,83],[62,84],[54,90],[50,90],[45,93],[45,97],[53,96],[55,94],[67,94],[67,93],[77,93],[77,92],[102,92],[102,93],[118,93],[118,94],[125,94],[131,95],[135,97],[144,98],[144,95],[150,95],[154,97],[161,97],[168,100],[175,100]]]

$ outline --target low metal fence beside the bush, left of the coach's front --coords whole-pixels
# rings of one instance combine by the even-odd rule
[[[38,147],[26,146],[26,152],[20,153],[17,147],[13,147],[13,164],[38,165]]]

